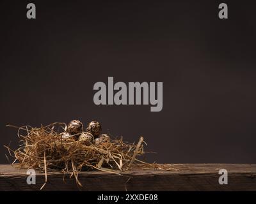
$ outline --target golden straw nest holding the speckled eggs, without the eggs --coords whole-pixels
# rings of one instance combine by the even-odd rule
[[[12,150],[5,146],[15,159],[13,163],[19,168],[44,171],[45,184],[47,171],[70,173],[75,177],[77,184],[82,186],[77,175],[83,170],[96,169],[120,173],[120,171],[129,170],[133,164],[143,163],[137,158],[145,153],[143,137],[137,144],[126,143],[122,138],[100,140],[99,137],[98,140],[95,138],[80,140],[76,136],[80,133],[65,136],[68,133],[68,126],[59,122],[40,128],[31,126],[15,128],[18,128],[21,142],[19,149]]]

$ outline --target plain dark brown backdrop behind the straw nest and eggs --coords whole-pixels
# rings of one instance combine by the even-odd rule
[[[255,163],[255,4],[1,1],[1,147],[16,129],[72,119],[148,143],[148,161]],[[93,84],[163,82],[163,111],[96,106]]]

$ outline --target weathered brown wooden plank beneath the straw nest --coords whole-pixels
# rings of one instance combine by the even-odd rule
[[[256,191],[256,164],[168,164],[165,170],[124,171],[121,175],[102,171],[79,174],[83,187],[74,177],[51,172],[44,191]],[[228,171],[228,184],[220,185],[220,169]],[[44,173],[36,173],[36,185],[26,183],[26,170],[0,165],[0,191],[38,191],[44,184]]]

